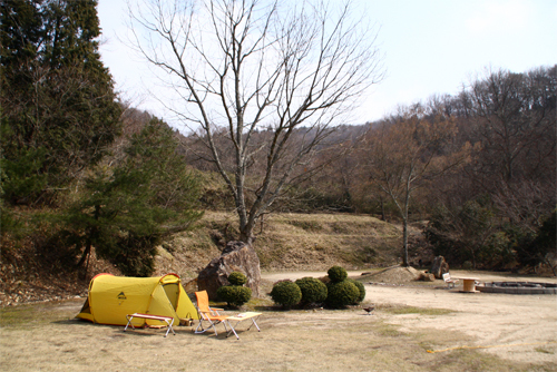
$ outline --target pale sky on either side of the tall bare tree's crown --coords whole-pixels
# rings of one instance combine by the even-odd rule
[[[362,97],[350,124],[381,119],[432,95],[456,95],[490,69],[525,72],[557,63],[556,0],[354,0],[354,6],[379,29],[385,77]],[[116,89],[133,106],[166,119],[169,114],[148,92],[152,67],[123,41],[126,0],[99,0],[98,16],[101,59]]]

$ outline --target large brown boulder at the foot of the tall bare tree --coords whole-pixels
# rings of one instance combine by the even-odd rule
[[[209,298],[216,300],[216,290],[229,285],[228,275],[233,272],[243,273],[247,278],[245,286],[252,290],[252,296],[260,296],[260,258],[251,245],[237,241],[228,242],[221,257],[213,258],[199,273],[197,287],[207,291]]]

